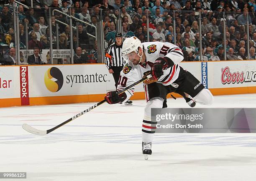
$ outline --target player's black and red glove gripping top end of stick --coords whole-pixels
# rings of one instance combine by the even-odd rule
[[[161,75],[164,75],[163,70],[166,70],[168,68],[168,63],[165,58],[157,58],[153,67],[151,68],[152,78],[154,80],[158,80]]]

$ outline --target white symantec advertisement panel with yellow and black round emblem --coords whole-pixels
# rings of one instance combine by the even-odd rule
[[[115,90],[104,65],[47,65],[29,67],[29,96],[105,94]]]

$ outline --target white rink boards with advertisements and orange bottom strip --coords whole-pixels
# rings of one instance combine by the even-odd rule
[[[256,93],[256,60],[180,65],[213,95]],[[114,84],[105,64],[1,66],[0,107],[97,102]],[[142,85],[132,98],[144,98]]]

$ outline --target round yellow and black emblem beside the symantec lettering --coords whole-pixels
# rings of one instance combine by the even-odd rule
[[[44,74],[44,83],[49,91],[58,92],[63,85],[63,75],[59,68],[49,68]]]

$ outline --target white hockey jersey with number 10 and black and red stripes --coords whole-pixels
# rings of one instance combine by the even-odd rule
[[[120,72],[120,77],[118,81],[118,90],[122,90],[126,88],[128,85],[135,83],[136,81],[143,78],[145,72],[151,70],[154,62],[159,57],[168,57],[173,62],[174,65],[166,70],[164,70],[164,75],[162,75],[157,83],[161,83],[163,85],[171,85],[178,77],[180,67],[177,63],[183,60],[183,53],[182,50],[172,43],[161,43],[161,42],[146,42],[142,43],[143,50],[146,55],[146,62],[143,65],[133,65],[129,61],[123,67],[123,70]],[[173,85],[175,86],[175,85]],[[134,92],[134,88],[129,89],[126,91],[127,101]],[[124,102],[125,102],[124,101]]]

